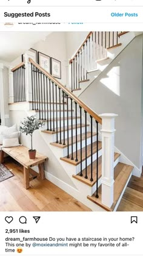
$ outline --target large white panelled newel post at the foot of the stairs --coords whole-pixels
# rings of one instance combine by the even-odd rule
[[[102,114],[102,204],[111,207],[114,200],[114,146],[116,114]]]

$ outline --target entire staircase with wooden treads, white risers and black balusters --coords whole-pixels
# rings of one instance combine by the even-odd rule
[[[121,47],[118,38],[126,33],[112,34],[113,45],[109,44],[108,49]],[[95,36],[93,36],[93,32],[90,32],[82,44],[84,51],[86,45],[86,54],[90,51],[90,59],[91,50],[88,40],[90,41],[92,38],[92,41],[95,40],[96,43],[97,34]],[[111,38],[111,35],[108,36]],[[101,41],[102,48],[103,44],[107,48],[107,35],[98,33],[98,40]],[[102,49],[104,54],[106,48]],[[71,92],[81,89],[81,84],[90,80],[91,72],[96,73],[95,76],[99,74],[98,69],[87,71],[85,66],[80,68],[79,63],[83,64],[84,59],[82,52],[82,59],[78,60],[80,51],[78,50],[75,57],[70,60],[71,90],[65,88],[41,66],[29,59],[29,71],[27,71],[27,80],[30,81],[28,85],[30,91],[29,113],[45,122],[46,129],[41,130],[41,135],[75,184],[76,193],[73,196],[87,206],[90,205],[93,210],[116,211],[130,180],[133,166],[122,163],[120,154],[114,152],[115,115],[99,116]],[[99,60],[99,57],[101,57],[100,52],[96,65],[105,60],[108,61],[106,55],[103,60]],[[89,60],[86,63],[91,66]],[[79,73],[78,71],[76,73],[78,67]],[[92,68],[96,67],[92,64]],[[25,82],[23,82],[26,69],[23,62],[12,69],[14,102],[26,102]],[[81,80],[79,80],[80,72]],[[101,133],[99,129],[102,129]]]

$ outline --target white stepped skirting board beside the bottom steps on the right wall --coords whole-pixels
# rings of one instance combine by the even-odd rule
[[[142,174],[142,168],[139,169],[134,163],[132,163],[124,154],[122,154],[121,151],[119,151],[118,148],[115,147],[115,152],[121,154],[120,156],[120,162],[121,163],[125,163],[126,165],[131,165],[133,166],[133,172],[132,175],[136,176],[136,177],[141,177]]]

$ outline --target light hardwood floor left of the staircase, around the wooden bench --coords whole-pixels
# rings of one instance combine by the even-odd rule
[[[21,166],[10,158],[5,162],[12,169],[14,177],[0,183],[0,211],[28,212],[88,212],[90,208],[56,187],[48,180],[35,179],[30,188],[25,190]]]

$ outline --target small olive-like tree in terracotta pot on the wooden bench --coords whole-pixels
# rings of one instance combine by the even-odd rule
[[[25,133],[26,135],[31,136],[31,149],[28,151],[29,158],[30,159],[35,159],[36,157],[36,149],[33,149],[33,132],[35,130],[38,130],[45,124],[39,119],[36,118],[36,116],[27,116],[27,118],[24,118],[24,121],[21,122],[22,126],[19,127],[19,130],[22,133]]]

